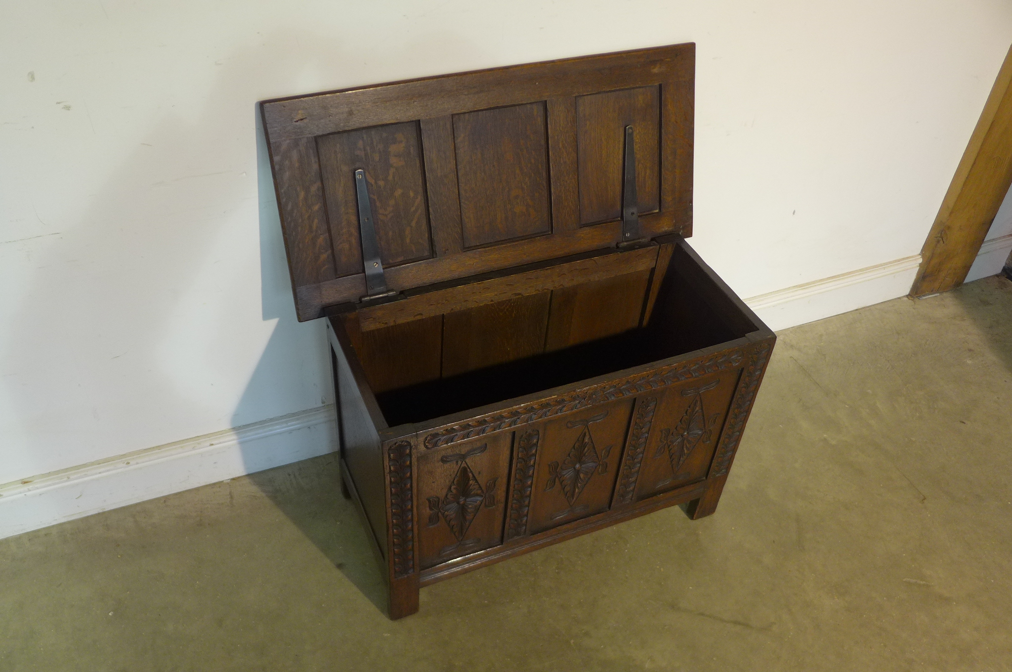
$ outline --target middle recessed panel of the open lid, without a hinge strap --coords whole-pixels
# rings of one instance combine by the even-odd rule
[[[543,103],[453,116],[463,246],[551,229]]]

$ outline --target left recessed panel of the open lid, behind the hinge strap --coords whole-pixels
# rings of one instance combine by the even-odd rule
[[[365,171],[384,266],[432,256],[417,123],[348,131],[317,139],[339,276],[362,272],[355,170]]]

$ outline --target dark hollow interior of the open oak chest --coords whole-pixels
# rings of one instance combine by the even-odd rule
[[[568,286],[535,285],[462,310],[424,310],[409,300],[331,320],[347,334],[389,426],[608,375],[757,329],[680,247],[607,257],[551,266],[558,275],[561,266],[617,265]]]

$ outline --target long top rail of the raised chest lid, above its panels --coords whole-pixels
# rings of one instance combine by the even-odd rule
[[[287,140],[691,80],[694,54],[695,45],[672,45],[278,98],[262,103],[264,128],[271,140]]]

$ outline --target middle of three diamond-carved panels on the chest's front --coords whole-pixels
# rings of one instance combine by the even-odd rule
[[[529,533],[608,509],[631,411],[623,400],[541,425]]]

